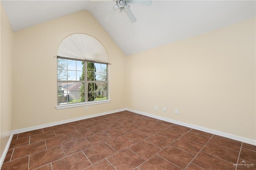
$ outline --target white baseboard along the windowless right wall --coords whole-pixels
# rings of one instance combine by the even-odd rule
[[[236,136],[236,135],[233,135],[233,134],[220,132],[218,130],[212,130],[212,129],[209,129],[209,128],[204,128],[204,127],[200,127],[200,126],[196,126],[196,125],[191,125],[191,124],[188,124],[188,123],[174,121],[172,119],[167,119],[167,118],[164,118],[164,117],[159,117],[159,116],[151,115],[151,114],[148,114],[148,113],[143,113],[143,112],[140,112],[140,111],[134,111],[132,109],[125,109],[125,110],[130,111],[130,112],[134,112],[134,113],[138,113],[140,115],[145,115],[145,116],[148,116],[148,117],[152,117],[152,118],[155,118],[155,119],[159,119],[159,120],[162,120],[162,121],[166,121],[166,122],[174,123],[174,124],[177,124],[177,125],[181,125],[181,126],[184,126],[184,127],[194,128],[196,130],[201,130],[203,132],[216,134],[218,136],[222,136],[222,137],[225,137],[225,138],[230,138],[230,139],[233,139],[233,140],[238,140],[240,142],[256,145],[256,140],[252,140],[252,139],[244,138],[244,137],[241,137],[241,136]]]

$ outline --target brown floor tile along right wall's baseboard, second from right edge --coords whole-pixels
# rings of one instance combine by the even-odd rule
[[[209,142],[218,144],[220,146],[224,146],[226,148],[236,150],[238,152],[240,151],[240,148],[242,145],[242,142],[238,142],[236,140],[224,138],[224,137],[217,136],[217,135],[214,135]]]

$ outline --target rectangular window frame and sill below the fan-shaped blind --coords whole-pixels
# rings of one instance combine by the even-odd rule
[[[57,56],[56,57],[57,60],[58,59],[67,59],[67,60],[74,60],[74,61],[84,61],[84,81],[79,81],[79,80],[58,80],[58,75],[57,75],[57,105],[56,105],[56,109],[69,109],[69,108],[75,108],[75,107],[84,107],[84,106],[90,106],[90,105],[100,105],[100,104],[105,104],[105,103],[110,103],[110,92],[109,92],[109,63],[103,63],[103,62],[98,62],[98,61],[90,61],[90,60],[84,60],[84,59],[74,59],[74,58],[68,58],[68,57],[60,57]],[[106,64],[106,81],[88,81],[87,80],[87,76],[88,76],[88,68],[87,68],[87,63],[91,62],[91,63],[99,63],[99,64]],[[67,68],[68,70],[68,68]],[[58,64],[57,64],[57,73],[58,73]],[[102,73],[100,71],[100,73]],[[67,103],[67,104],[63,104],[63,105],[59,105],[58,104],[58,83],[78,83],[78,82],[82,82],[84,83],[84,94],[85,94],[85,101],[81,102],[81,103]],[[100,100],[100,101],[88,101],[88,83],[107,83],[107,99],[106,100]],[[95,91],[94,91],[95,93]]]

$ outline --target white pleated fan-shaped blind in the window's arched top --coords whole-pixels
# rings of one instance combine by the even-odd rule
[[[109,63],[105,47],[88,34],[79,33],[66,37],[58,47],[57,56]]]

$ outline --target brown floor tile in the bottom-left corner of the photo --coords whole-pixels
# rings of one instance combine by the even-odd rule
[[[28,156],[4,163],[1,170],[28,170]]]

